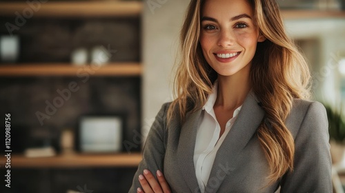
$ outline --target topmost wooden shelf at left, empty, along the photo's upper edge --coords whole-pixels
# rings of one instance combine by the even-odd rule
[[[0,15],[17,17],[15,12],[23,15],[23,10],[30,9],[34,17],[126,17],[141,14],[142,8],[141,1],[48,1],[37,6],[37,10],[27,3],[3,2],[0,3]]]

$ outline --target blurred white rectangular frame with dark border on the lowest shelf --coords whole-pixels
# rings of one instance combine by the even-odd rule
[[[82,153],[122,151],[124,116],[84,115],[79,119],[76,148]]]

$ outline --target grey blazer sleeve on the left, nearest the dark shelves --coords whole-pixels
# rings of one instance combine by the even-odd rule
[[[150,132],[146,139],[143,151],[143,159],[139,163],[137,172],[132,181],[132,186],[129,192],[137,192],[137,188],[141,187],[139,183],[139,174],[143,171],[149,170],[152,174],[156,174],[157,170],[163,171],[165,148],[165,131],[166,131],[166,111],[168,110],[168,103],[164,104],[159,110],[155,121],[153,122]]]

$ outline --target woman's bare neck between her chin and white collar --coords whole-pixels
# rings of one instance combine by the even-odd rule
[[[244,69],[243,69],[244,70]],[[251,89],[249,70],[231,76],[218,76],[218,92],[215,106],[235,110],[242,103]]]

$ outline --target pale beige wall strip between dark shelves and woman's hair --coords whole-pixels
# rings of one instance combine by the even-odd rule
[[[144,0],[141,128],[144,135],[161,105],[172,101],[172,67],[188,3],[186,0]]]

